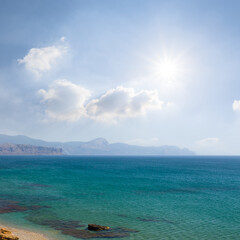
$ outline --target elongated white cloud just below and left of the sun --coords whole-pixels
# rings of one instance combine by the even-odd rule
[[[99,121],[111,121],[118,118],[144,115],[148,110],[161,109],[157,91],[140,91],[132,88],[117,87],[107,91],[87,106],[89,117]]]

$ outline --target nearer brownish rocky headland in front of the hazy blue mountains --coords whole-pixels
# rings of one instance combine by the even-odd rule
[[[61,148],[37,147],[26,144],[0,144],[0,155],[62,155]]]

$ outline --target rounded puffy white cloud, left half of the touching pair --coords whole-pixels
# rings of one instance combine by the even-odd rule
[[[48,90],[40,89],[42,103],[46,104],[46,114],[57,121],[76,121],[86,116],[84,104],[90,92],[67,80],[55,81]]]

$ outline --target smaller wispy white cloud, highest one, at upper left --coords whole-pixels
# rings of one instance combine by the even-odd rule
[[[64,46],[31,48],[23,59],[18,59],[18,62],[39,77],[42,72],[49,71],[66,50]]]

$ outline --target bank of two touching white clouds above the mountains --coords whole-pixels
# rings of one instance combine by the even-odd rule
[[[132,88],[117,87],[89,100],[86,88],[68,80],[57,80],[48,90],[39,90],[48,118],[58,121],[77,121],[88,117],[102,122],[145,115],[149,110],[159,110],[163,102],[157,91],[135,92]]]

